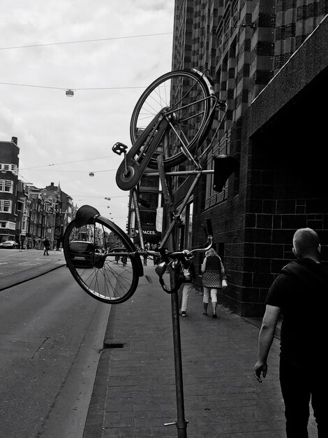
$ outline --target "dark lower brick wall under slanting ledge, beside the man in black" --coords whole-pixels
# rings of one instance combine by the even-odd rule
[[[328,37],[328,23],[315,38]],[[228,199],[204,210],[203,183],[195,194],[195,244],[211,218],[229,287],[218,296],[241,316],[262,316],[269,286],[292,255],[292,235],[311,227],[328,261],[328,192],[325,111],[328,60],[308,40],[231,129],[230,153],[240,169],[229,180]],[[297,69],[297,66],[301,68]],[[292,75],[292,76],[291,76]],[[308,82],[304,80],[308,76]],[[288,83],[292,86],[286,87]],[[301,84],[303,85],[301,87]],[[196,268],[200,269],[199,256]],[[199,279],[200,280],[200,279]]]

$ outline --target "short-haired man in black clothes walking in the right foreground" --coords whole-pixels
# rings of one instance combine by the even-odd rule
[[[267,376],[267,357],[282,316],[279,379],[287,437],[308,437],[311,400],[318,437],[327,438],[324,351],[328,338],[328,271],[320,263],[320,241],[313,229],[297,229],[292,245],[297,260],[283,267],[269,288],[253,372],[260,383]]]

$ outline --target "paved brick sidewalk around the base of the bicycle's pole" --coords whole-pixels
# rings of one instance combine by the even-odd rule
[[[84,438],[177,437],[171,298],[145,267],[128,302],[112,306],[91,397]],[[218,306],[218,319],[202,315],[202,296],[191,292],[179,318],[184,408],[188,438],[284,438],[278,382],[279,340],[262,384],[253,377],[258,322]],[[315,438],[313,416],[309,438]]]

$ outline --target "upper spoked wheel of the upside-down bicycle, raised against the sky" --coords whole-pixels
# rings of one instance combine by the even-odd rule
[[[160,153],[165,156],[165,167],[176,166],[186,160],[186,155],[181,151],[182,143],[193,152],[204,141],[214,118],[214,111],[211,111],[213,97],[214,91],[209,81],[195,71],[170,71],[149,85],[132,113],[132,143],[162,108],[168,108],[166,114],[170,117],[167,134],[151,157],[149,167],[157,168],[156,156]]]

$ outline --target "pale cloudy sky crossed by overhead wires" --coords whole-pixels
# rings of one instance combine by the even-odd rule
[[[60,183],[125,230],[112,146],[131,147],[137,99],[171,70],[173,13],[174,0],[1,0],[0,140],[17,137],[22,181]]]

